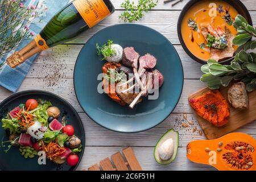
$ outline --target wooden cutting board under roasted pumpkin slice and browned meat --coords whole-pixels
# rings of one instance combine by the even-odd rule
[[[220,92],[223,94],[227,101],[228,89],[229,87],[222,87],[220,89]],[[194,97],[201,96],[208,91],[209,88],[201,89],[189,96],[188,100],[191,100],[191,98]],[[205,136],[208,139],[216,139],[222,137],[223,135],[228,134],[256,119],[256,90],[254,90],[253,92],[249,92],[248,95],[250,102],[249,109],[234,109],[232,106],[230,106],[230,118],[228,119],[228,123],[222,127],[213,126],[212,123],[208,122],[207,120],[196,114],[197,122],[201,126]]]

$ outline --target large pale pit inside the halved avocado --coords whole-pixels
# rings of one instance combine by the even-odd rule
[[[174,140],[172,138],[164,141],[159,148],[159,158],[161,160],[169,160],[174,155]]]

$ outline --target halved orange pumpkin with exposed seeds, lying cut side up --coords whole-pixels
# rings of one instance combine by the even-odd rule
[[[187,158],[220,171],[255,171],[256,140],[245,133],[230,133],[214,140],[196,140],[187,145]]]

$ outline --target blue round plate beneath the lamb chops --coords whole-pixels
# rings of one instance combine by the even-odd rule
[[[144,99],[134,109],[120,106],[106,94],[97,92],[102,73],[101,57],[96,44],[111,39],[122,47],[134,47],[140,54],[150,53],[158,60],[156,69],[164,76],[157,100]],[[183,67],[174,46],[158,31],[134,23],[104,28],[88,40],[77,57],[74,85],[77,100],[88,116],[99,125],[122,133],[151,129],[164,121],[174,110],[183,89]]]

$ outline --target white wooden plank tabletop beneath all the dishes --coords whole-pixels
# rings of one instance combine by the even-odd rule
[[[204,83],[199,81],[202,74],[200,71],[201,65],[193,61],[184,52],[177,36],[177,19],[181,9],[188,0],[183,0],[183,2],[178,3],[174,7],[171,7],[170,3],[164,4],[163,0],[159,0],[158,6],[138,22],[139,24],[154,28],[166,36],[174,44],[183,64],[185,78],[183,93],[176,109],[166,121],[148,131],[137,134],[121,134],[106,130],[97,125],[82,111],[73,89],[74,65],[82,46],[92,35],[102,28],[121,23],[118,16],[122,13],[120,7],[122,0],[112,0],[112,2],[117,9],[112,16],[91,30],[86,31],[76,40],[40,53],[32,65],[30,73],[28,73],[22,86],[20,86],[19,91],[39,89],[56,93],[70,102],[79,112],[85,128],[86,147],[78,169],[87,169],[92,164],[100,162],[101,159],[109,157],[115,152],[122,150],[122,148],[132,146],[144,170],[214,170],[212,167],[192,163],[186,157],[188,142],[205,139],[204,135],[201,136],[198,132],[192,132],[193,127],[200,129],[200,126],[197,125],[195,115],[192,113],[187,101],[189,94],[205,86]],[[256,1],[243,0],[242,2],[250,10],[255,25]],[[0,101],[11,94],[8,90],[0,88]],[[195,126],[187,128],[181,126],[184,114],[187,114],[188,120],[195,122]],[[173,163],[168,166],[160,166],[155,162],[153,151],[158,139],[169,128],[174,128],[180,133],[179,151]],[[237,131],[250,134],[256,138],[256,122],[251,122]]]

